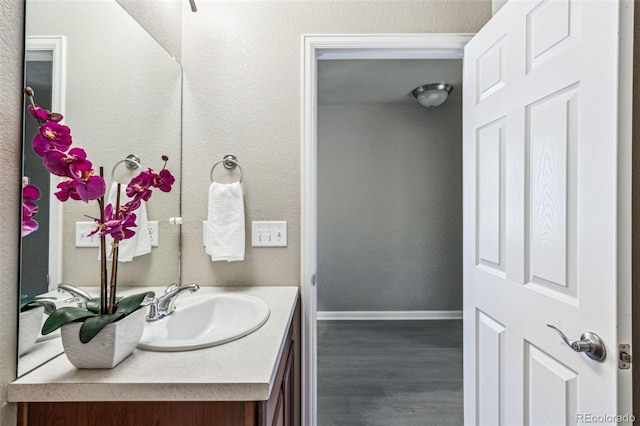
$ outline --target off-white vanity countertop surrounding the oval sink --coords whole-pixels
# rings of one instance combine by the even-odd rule
[[[136,289],[140,290],[140,289]],[[162,294],[164,288],[147,288]],[[201,287],[191,295],[232,292],[258,297],[267,322],[241,339],[184,352],[136,349],[113,369],[76,369],[62,354],[9,384],[10,402],[263,401],[269,399],[297,287]],[[122,291],[119,295],[133,293]],[[178,302],[180,299],[178,299]],[[177,303],[178,306],[178,303]]]

